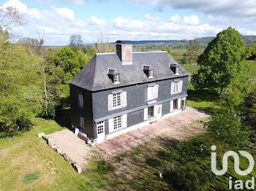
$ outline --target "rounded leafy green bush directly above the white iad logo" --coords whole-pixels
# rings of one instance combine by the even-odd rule
[[[208,132],[216,139],[223,140],[233,147],[249,144],[251,131],[241,128],[241,117],[232,108],[223,108],[211,116]]]

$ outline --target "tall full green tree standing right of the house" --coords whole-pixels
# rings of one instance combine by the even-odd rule
[[[230,85],[241,85],[233,80],[249,77],[243,63],[248,55],[249,50],[236,29],[230,27],[219,32],[199,56],[200,69],[193,75],[192,84],[197,89],[207,88],[217,93],[222,93]]]

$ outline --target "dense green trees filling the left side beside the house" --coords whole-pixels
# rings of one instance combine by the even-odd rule
[[[69,106],[69,80],[97,52],[113,51],[113,46],[101,37],[93,47],[83,47],[80,35],[60,48],[45,48],[43,35],[12,43],[10,29],[25,22],[13,7],[1,6],[0,13],[1,138],[29,130],[33,117],[56,117],[58,109]]]

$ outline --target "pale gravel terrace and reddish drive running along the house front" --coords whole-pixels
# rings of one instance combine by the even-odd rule
[[[89,147],[85,141],[79,139],[68,129],[49,134],[48,137],[72,161],[86,167],[90,157],[95,152],[101,153],[103,158],[113,158],[138,147],[140,144],[150,143],[155,147],[160,147],[159,141],[161,139],[182,141],[197,136],[204,132],[203,125],[199,121],[207,117],[207,114],[187,107],[184,112],[146,125],[143,128],[132,130],[129,133],[98,144],[96,147]]]

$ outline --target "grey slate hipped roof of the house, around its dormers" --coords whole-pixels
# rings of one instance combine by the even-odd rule
[[[122,65],[116,52],[100,53],[94,55],[94,58],[69,83],[86,90],[97,91],[189,75],[189,72],[184,70],[166,51],[132,52],[132,63],[132,65]],[[170,63],[180,66],[180,75],[173,73]],[[147,77],[143,71],[143,65],[154,69],[153,78]],[[115,73],[119,74],[120,83],[113,84],[108,76],[108,69],[116,69]]]

